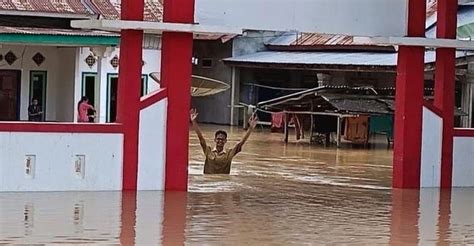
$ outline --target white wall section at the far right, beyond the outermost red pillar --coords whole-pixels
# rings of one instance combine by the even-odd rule
[[[454,137],[453,187],[474,187],[474,138]]]

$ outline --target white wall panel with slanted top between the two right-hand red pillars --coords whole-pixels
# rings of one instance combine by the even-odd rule
[[[441,179],[442,119],[423,107],[421,187],[439,187]]]

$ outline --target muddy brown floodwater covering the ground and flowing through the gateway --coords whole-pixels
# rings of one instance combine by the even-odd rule
[[[229,144],[243,134],[228,130]],[[474,244],[474,189],[392,190],[384,143],[281,138],[256,132],[231,175],[204,176],[191,133],[189,193],[0,193],[0,244]]]

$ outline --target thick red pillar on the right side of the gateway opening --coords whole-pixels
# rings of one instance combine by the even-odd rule
[[[408,36],[424,37],[426,1],[409,0]],[[419,188],[424,47],[400,46],[395,96],[393,187]]]

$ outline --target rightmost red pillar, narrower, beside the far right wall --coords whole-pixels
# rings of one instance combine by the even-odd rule
[[[457,7],[457,0],[438,0],[438,38],[456,39]],[[441,110],[443,119],[441,188],[450,188],[452,184],[455,62],[456,49],[436,49],[434,106]]]

